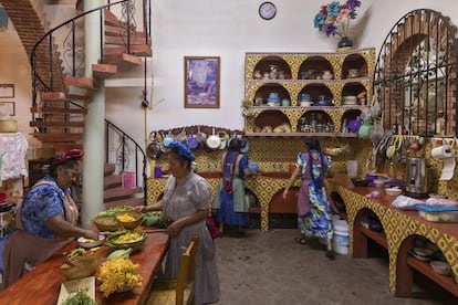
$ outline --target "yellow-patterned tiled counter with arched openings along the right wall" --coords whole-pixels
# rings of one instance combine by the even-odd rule
[[[384,246],[389,256],[389,291],[396,296],[408,296],[413,287],[413,271],[417,271],[458,297],[458,223],[427,221],[417,210],[400,210],[392,206],[395,196],[384,192],[371,197],[374,187],[355,187],[346,175],[337,173],[326,180],[329,191],[339,194],[345,204],[350,254],[367,256],[367,239]],[[364,223],[368,213],[375,214],[383,230],[371,230]],[[441,254],[450,266],[451,276],[437,273],[418,250],[418,240],[426,241]],[[430,260],[431,256],[428,256]],[[421,256],[423,259],[423,256]]]

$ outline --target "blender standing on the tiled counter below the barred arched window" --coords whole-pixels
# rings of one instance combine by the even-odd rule
[[[428,197],[428,185],[427,185],[427,172],[426,161],[424,158],[407,158],[407,186],[406,194],[414,198],[427,198]]]

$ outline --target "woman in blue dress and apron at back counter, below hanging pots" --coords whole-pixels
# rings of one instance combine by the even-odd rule
[[[241,140],[231,138],[228,150],[222,154],[222,180],[214,200],[218,209],[217,221],[222,234],[225,224],[237,227],[237,235],[243,235],[243,227],[249,224],[248,203],[244,200],[243,179],[251,176],[248,169],[248,156],[240,154]]]

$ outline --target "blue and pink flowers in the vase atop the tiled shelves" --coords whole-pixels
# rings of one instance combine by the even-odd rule
[[[333,1],[321,6],[320,12],[313,20],[313,27],[324,32],[326,36],[347,38],[350,20],[356,19],[355,10],[360,7],[360,0],[347,0],[344,4]]]

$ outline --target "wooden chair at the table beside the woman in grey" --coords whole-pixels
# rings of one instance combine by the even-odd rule
[[[196,253],[199,236],[195,235],[181,255],[176,280],[155,280],[146,305],[192,305],[195,295]]]

